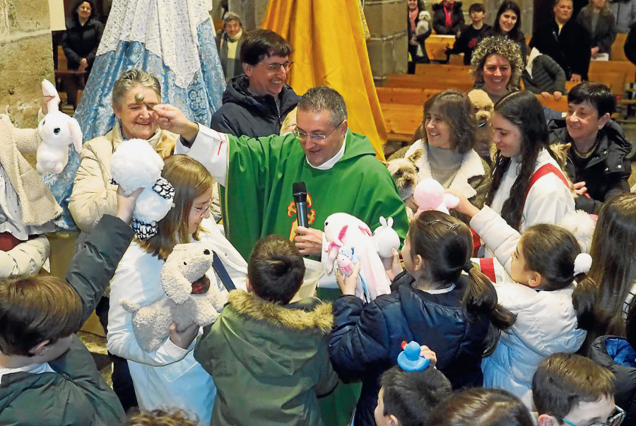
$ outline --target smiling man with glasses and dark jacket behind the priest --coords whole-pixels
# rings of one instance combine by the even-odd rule
[[[245,76],[230,80],[210,127],[250,138],[279,134],[300,100],[285,84],[292,66],[290,53],[290,45],[276,32],[256,30],[245,36],[240,53]]]

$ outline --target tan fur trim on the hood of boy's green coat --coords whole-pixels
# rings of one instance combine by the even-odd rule
[[[230,292],[228,300],[237,314],[264,320],[273,326],[295,331],[318,329],[323,334],[327,334],[331,332],[331,327],[334,325],[331,304],[317,302],[314,299],[300,300],[283,306],[267,302],[254,293],[235,290]]]

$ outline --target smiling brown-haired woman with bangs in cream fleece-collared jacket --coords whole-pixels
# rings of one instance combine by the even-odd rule
[[[420,180],[435,179],[483,206],[490,167],[473,150],[476,124],[469,97],[459,90],[444,90],[431,97],[424,104],[423,128],[423,138],[405,155],[414,159]]]

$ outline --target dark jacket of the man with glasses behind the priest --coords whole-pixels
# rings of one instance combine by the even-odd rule
[[[288,85],[278,94],[281,113],[276,109],[276,100],[271,95],[255,96],[247,91],[249,78],[237,76],[230,80],[223,93],[223,105],[212,116],[210,127],[221,133],[234,136],[270,136],[281,133],[281,124],[293,110],[300,96]]]

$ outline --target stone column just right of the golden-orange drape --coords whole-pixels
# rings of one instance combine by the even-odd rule
[[[371,32],[367,41],[371,72],[376,85],[390,73],[406,73],[406,1],[365,0],[365,18]]]

